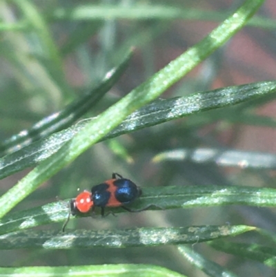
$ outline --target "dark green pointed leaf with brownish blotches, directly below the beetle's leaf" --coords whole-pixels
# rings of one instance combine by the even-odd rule
[[[254,227],[237,226],[191,226],[176,228],[139,228],[112,230],[75,230],[62,233],[57,230],[19,231],[0,236],[0,249],[71,249],[92,247],[137,247],[178,245],[204,242],[237,236]]]

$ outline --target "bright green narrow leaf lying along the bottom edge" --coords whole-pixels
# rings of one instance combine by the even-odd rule
[[[70,267],[0,267],[1,276],[17,277],[185,277],[156,265],[81,265]]]

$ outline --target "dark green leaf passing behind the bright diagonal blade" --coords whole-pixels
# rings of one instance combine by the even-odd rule
[[[129,115],[117,128],[101,138],[101,141],[137,131],[148,126],[161,124],[169,120],[175,120],[186,115],[228,105],[232,106],[239,102],[248,101],[254,97],[275,93],[275,90],[276,82],[259,82],[195,93],[188,97],[157,99],[155,102]],[[80,131],[83,126],[86,126],[87,122],[89,122],[89,120],[80,122],[72,128],[68,128],[43,138],[38,142],[34,142],[21,151],[2,157],[0,159],[0,179],[46,160],[47,157],[50,157],[52,153],[57,152],[63,144],[68,142],[75,133]],[[256,154],[258,157],[261,155],[261,153]],[[250,153],[247,155],[250,155]],[[250,155],[250,159],[251,158],[253,158],[252,155]],[[273,160],[273,157],[266,156],[266,158],[270,161]],[[248,166],[250,166],[250,159],[248,159]],[[253,159],[251,163],[254,163],[254,160],[256,164],[256,158]],[[257,164],[255,166],[257,166]],[[273,164],[271,166],[273,166]]]

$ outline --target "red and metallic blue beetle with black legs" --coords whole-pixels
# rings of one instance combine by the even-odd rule
[[[65,230],[66,225],[70,220],[70,215],[76,216],[79,213],[94,213],[95,207],[101,208],[101,216],[105,215],[104,210],[106,207],[121,207],[126,211],[139,212],[148,209],[150,206],[132,210],[125,206],[130,204],[136,198],[141,195],[141,189],[129,179],[123,178],[118,173],[112,173],[112,179],[107,180],[101,184],[97,184],[92,187],[90,191],[83,191],[77,195],[76,198],[70,200],[70,213],[68,218],[62,227],[62,231]]]

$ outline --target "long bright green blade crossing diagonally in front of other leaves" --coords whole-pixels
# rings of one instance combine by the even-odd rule
[[[0,198],[0,217],[3,217],[23,198],[32,193],[42,182],[75,160],[81,153],[99,141],[112,128],[118,126],[133,111],[159,97],[161,93],[184,77],[192,68],[224,44],[256,12],[264,0],[247,0],[233,15],[194,47],[188,49],[168,66],[153,75],[123,99],[108,108],[92,123],[88,123],[70,142],[41,162],[25,178]],[[200,100],[200,99],[199,99]]]

